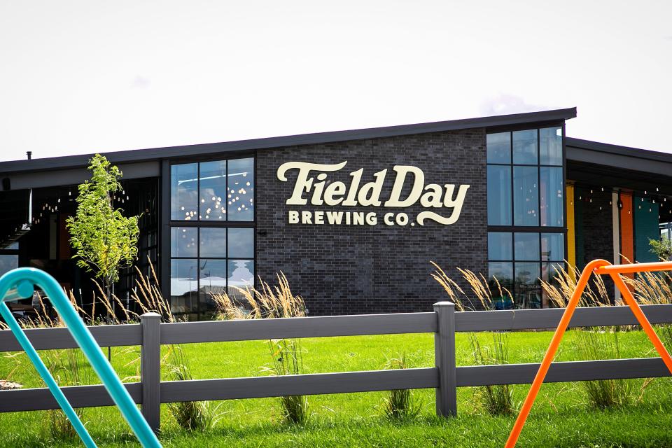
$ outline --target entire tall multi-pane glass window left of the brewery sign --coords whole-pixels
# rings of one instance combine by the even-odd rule
[[[171,310],[211,318],[214,294],[254,286],[254,228],[244,224],[254,221],[254,158],[172,165],[170,175]]]

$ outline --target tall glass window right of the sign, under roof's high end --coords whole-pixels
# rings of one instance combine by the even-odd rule
[[[498,309],[552,304],[564,267],[562,128],[488,134],[489,286]]]

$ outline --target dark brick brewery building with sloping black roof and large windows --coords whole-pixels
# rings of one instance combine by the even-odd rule
[[[142,214],[139,265],[158,267],[176,314],[208,318],[211,293],[279,272],[311,315],[426,311],[446,298],[430,261],[468,296],[458,267],[510,290],[497,307],[547,307],[541,280],[596,257],[648,261],[647,238],[672,221],[672,158],[570,139],[575,113],[107,157],[124,172],[118,206]],[[0,269],[41,267],[83,304],[90,281],[73,265],[64,220],[89,158],[0,163]],[[125,272],[118,295],[133,283]]]

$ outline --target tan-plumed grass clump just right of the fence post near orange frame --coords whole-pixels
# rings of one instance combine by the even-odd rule
[[[435,271],[431,274],[433,279],[442,286],[451,302],[455,304],[458,311],[474,309],[475,300],[465,293],[456,281],[452,280],[443,269],[435,262],[431,262]],[[482,274],[475,274],[468,269],[458,268],[458,272],[468,283],[471,289],[472,297],[478,301],[482,309],[494,309],[493,297],[507,297],[513,302],[512,295],[507,288],[503,287],[497,279],[493,279],[496,288],[496,294],[493,295],[491,286]],[[484,344],[482,337],[476,333],[469,333],[469,342],[471,344],[472,356],[476,365],[495,365],[509,363],[509,337],[505,332],[493,332],[492,341]],[[510,384],[496,384],[493,386],[482,386],[476,389],[476,396],[482,407],[489,414],[509,415],[516,410],[513,400],[514,386]]]

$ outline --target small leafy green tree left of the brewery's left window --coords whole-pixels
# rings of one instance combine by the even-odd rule
[[[72,258],[102,281],[109,302],[119,269],[130,267],[137,258],[139,216],[126,218],[122,209],[114,208],[113,197],[122,189],[118,167],[96,154],[89,161],[89,169],[91,181],[78,187],[77,213],[67,219],[66,226],[75,251]]]

